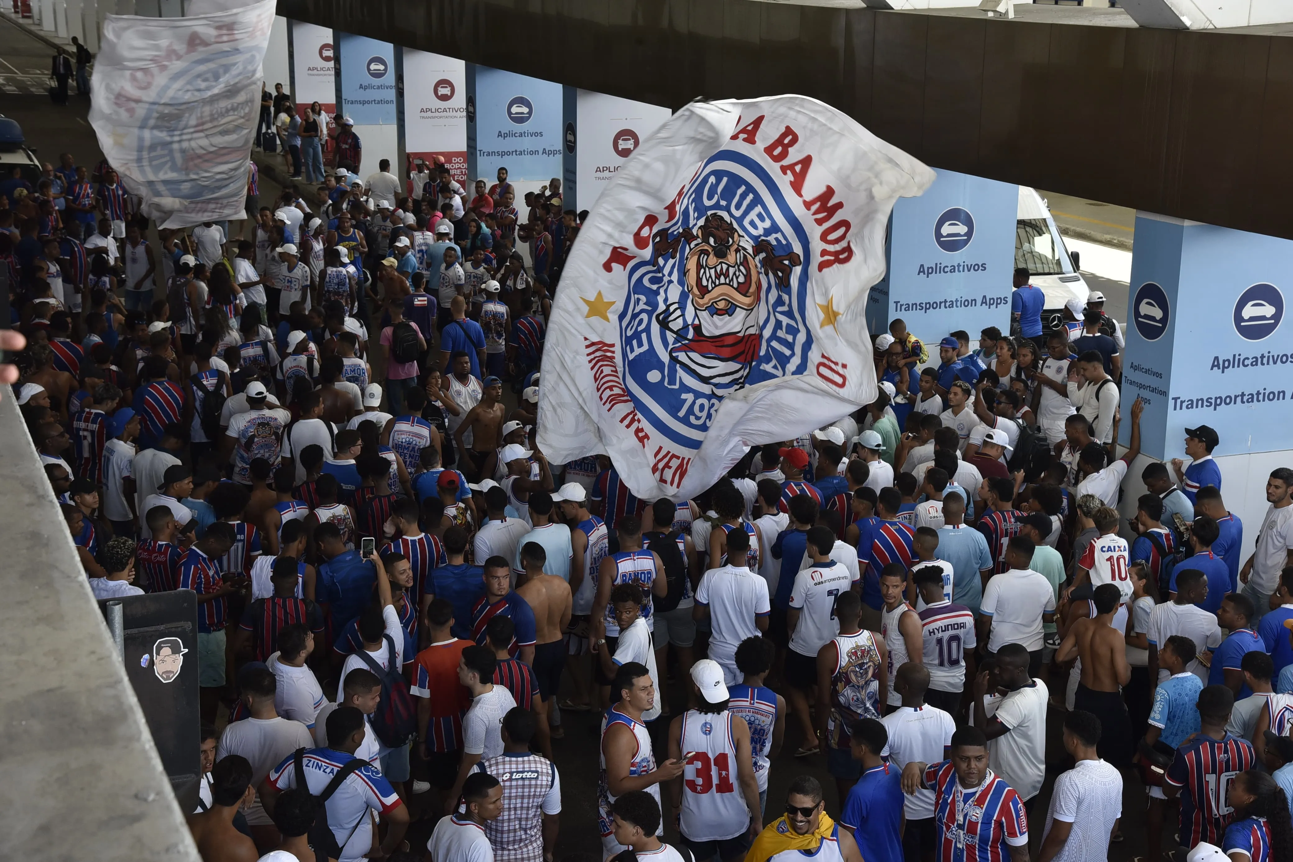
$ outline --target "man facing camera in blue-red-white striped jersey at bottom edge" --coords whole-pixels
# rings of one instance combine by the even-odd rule
[[[949,760],[904,766],[903,792],[918,790],[934,791],[936,862],[1028,862],[1024,803],[988,768],[988,738],[979,728],[952,734]]]

